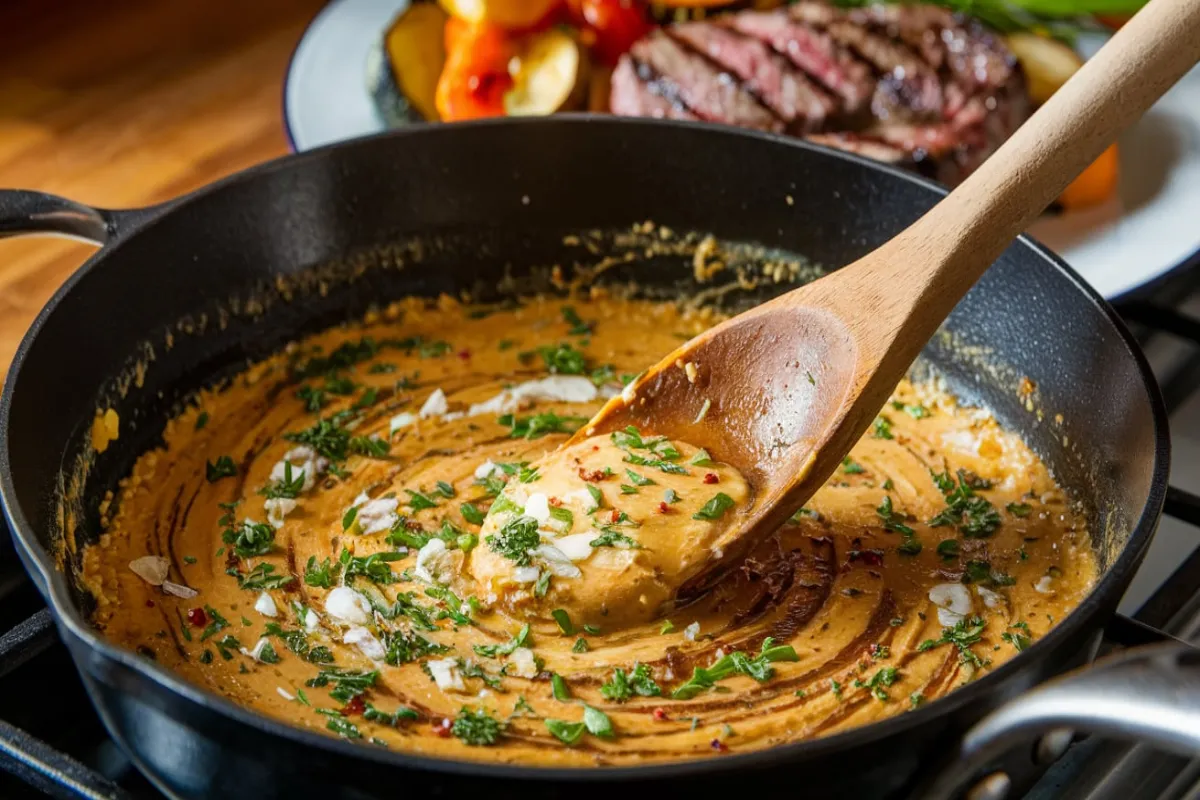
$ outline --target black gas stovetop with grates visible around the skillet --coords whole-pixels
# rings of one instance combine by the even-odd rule
[[[1198,259],[1200,266],[1200,259]],[[1141,339],[1171,419],[1166,513],[1106,628],[1104,649],[1153,638],[1200,643],[1200,269],[1118,306]],[[0,523],[2,533],[2,523]],[[0,547],[0,798],[161,795],[108,736],[7,536]],[[1130,621],[1130,618],[1135,621]],[[1026,800],[1200,800],[1200,759],[1142,745],[1075,742]]]

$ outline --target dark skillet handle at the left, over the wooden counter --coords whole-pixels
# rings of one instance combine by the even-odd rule
[[[58,234],[107,245],[152,215],[152,209],[94,209],[56,194],[0,190],[0,239],[23,234]]]

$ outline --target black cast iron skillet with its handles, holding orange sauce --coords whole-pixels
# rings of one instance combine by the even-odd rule
[[[121,434],[90,465],[70,522],[80,542],[97,535],[104,491],[154,444],[187,392],[371,303],[463,287],[486,294],[504,271],[522,276],[530,265],[580,259],[565,233],[642,219],[833,267],[883,242],[938,196],[911,175],[802,142],[614,118],[412,128],[289,156],[143,211],[0,193],[0,235],[59,233],[104,245],[47,305],[13,362],[0,402],[0,498],[106,724],[161,788],[188,798],[708,796],[766,780],[806,798],[896,796],[941,792],[928,784],[938,765],[949,765],[946,786],[984,766],[1021,784],[1037,771],[1036,734],[1062,724],[1200,751],[1200,734],[1178,717],[1200,710],[1196,658],[1183,645],[1026,694],[966,733],[1091,658],[1166,486],[1166,421],[1145,360],[1099,296],[1028,240],[1004,253],[924,359],[1022,433],[1090,510],[1104,575],[1026,652],[910,714],[772,751],[644,768],[563,771],[414,757],[264,718],[113,646],[86,621],[88,599],[70,575],[77,557],[67,554],[67,575],[55,566],[64,536],[55,499],[64,471],[85,453],[97,408],[119,411]],[[414,236],[420,248],[392,246]],[[270,289],[277,276],[299,281],[313,267],[323,270],[320,291],[317,281],[288,296]],[[685,258],[668,258],[610,275],[662,288],[685,285],[690,271]],[[784,288],[762,287],[757,296]],[[138,360],[146,363],[140,385],[127,379]],[[1018,392],[1021,377],[1034,383],[1032,397]],[[1114,704],[1120,697],[1126,705]]]

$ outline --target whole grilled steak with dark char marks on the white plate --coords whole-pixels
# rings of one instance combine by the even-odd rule
[[[682,23],[634,46],[617,113],[786,130],[955,184],[1028,116],[1002,40],[936,6],[799,0]]]

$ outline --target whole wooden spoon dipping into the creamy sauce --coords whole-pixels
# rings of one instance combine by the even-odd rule
[[[1200,0],[1152,0],[912,227],[688,342],[574,437],[634,425],[706,447],[746,477],[754,501],[734,543],[680,596],[739,563],[824,483],[988,266],[1198,60]]]

